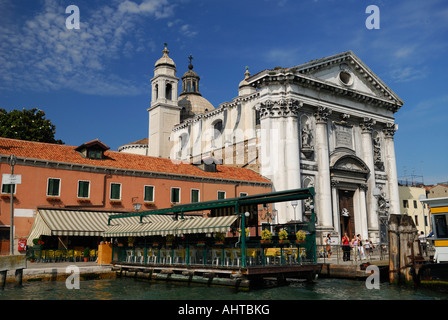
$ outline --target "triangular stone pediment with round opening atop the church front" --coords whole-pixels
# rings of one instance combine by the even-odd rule
[[[295,69],[303,75],[361,94],[387,99],[398,105],[403,101],[353,52],[310,61]]]

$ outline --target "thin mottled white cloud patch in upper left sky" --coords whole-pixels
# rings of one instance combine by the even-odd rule
[[[81,10],[80,29],[66,28],[65,6],[45,0],[28,21],[0,25],[0,89],[72,89],[98,95],[135,95],[146,84],[113,74],[110,63],[153,44],[139,36],[138,17],[172,14],[167,0],[111,1]],[[138,15],[138,16],[136,16]],[[130,38],[131,37],[131,38]],[[129,40],[131,39],[131,40]]]

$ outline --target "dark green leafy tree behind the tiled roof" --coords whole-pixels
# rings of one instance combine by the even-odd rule
[[[45,119],[45,112],[37,108],[11,110],[0,108],[0,137],[64,144],[54,137],[56,126]]]

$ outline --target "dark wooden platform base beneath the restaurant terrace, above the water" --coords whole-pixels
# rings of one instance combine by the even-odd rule
[[[202,265],[149,265],[138,263],[112,262],[112,270],[117,276],[134,277],[147,280],[165,280],[187,284],[202,284],[233,287],[250,290],[283,285],[287,279],[314,280],[321,265],[278,265],[251,267],[222,267]]]

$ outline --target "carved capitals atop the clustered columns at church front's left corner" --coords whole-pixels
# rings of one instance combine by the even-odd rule
[[[256,109],[260,111],[260,119],[272,117],[296,117],[303,102],[297,99],[266,100],[260,102]]]

